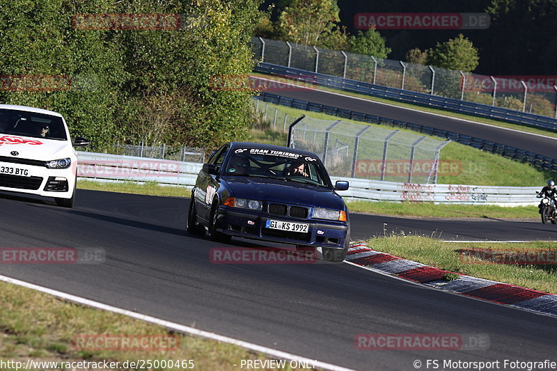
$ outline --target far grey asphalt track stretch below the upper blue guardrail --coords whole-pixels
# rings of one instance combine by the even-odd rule
[[[265,84],[265,80],[260,80],[256,77],[252,79],[259,80],[259,86]],[[272,79],[272,77],[269,76],[269,79]],[[460,134],[476,136],[477,138],[487,141],[512,145],[513,147],[520,148],[521,150],[528,150],[538,155],[555,157],[557,139],[535,136],[525,132],[514,132],[501,129],[500,127],[480,125],[464,120],[457,120],[445,116],[437,116],[426,112],[413,111],[397,106],[329,93],[323,90],[302,88],[300,86],[296,86],[294,89],[283,88],[278,91],[275,88],[274,90],[268,90],[268,92],[282,95],[283,97],[326,104],[342,109],[350,109],[351,111],[391,118],[393,120],[406,121],[407,123],[415,123],[434,127],[436,129],[444,129]]]

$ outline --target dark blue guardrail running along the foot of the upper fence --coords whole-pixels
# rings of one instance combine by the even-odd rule
[[[535,113],[514,111],[512,109],[467,102],[464,100],[457,100],[455,98],[440,97],[438,95],[431,95],[427,93],[418,93],[411,90],[389,88],[387,86],[344,79],[343,77],[336,77],[330,74],[320,74],[311,71],[298,70],[297,68],[288,68],[271,63],[259,63],[253,70],[265,74],[277,74],[281,77],[288,77],[289,79],[303,81],[306,84],[326,86],[352,93],[366,94],[372,97],[380,97],[409,104],[417,104],[419,106],[429,106],[436,109],[444,109],[446,111],[465,113],[476,117],[494,118],[507,123],[537,127],[539,129],[557,132],[556,119],[536,115]]]

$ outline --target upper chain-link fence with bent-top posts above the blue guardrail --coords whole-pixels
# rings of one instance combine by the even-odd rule
[[[503,79],[264,38],[251,45],[266,63],[557,118],[557,86],[543,78]]]

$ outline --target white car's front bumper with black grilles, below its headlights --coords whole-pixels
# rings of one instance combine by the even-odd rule
[[[0,191],[72,198],[76,174],[74,164],[69,168],[54,169],[0,161],[0,171],[6,171],[6,168],[14,169],[13,173],[0,173]],[[21,173],[28,176],[20,175]]]

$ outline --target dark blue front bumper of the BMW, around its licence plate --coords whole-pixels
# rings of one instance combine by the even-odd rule
[[[307,223],[307,233],[288,232],[265,228],[267,220]],[[349,224],[341,221],[317,221],[313,219],[290,219],[271,216],[263,212],[251,212],[233,207],[221,206],[217,220],[219,231],[236,237],[261,239],[269,242],[297,244],[303,246],[322,246],[345,248]],[[350,238],[350,237],[349,237]]]

